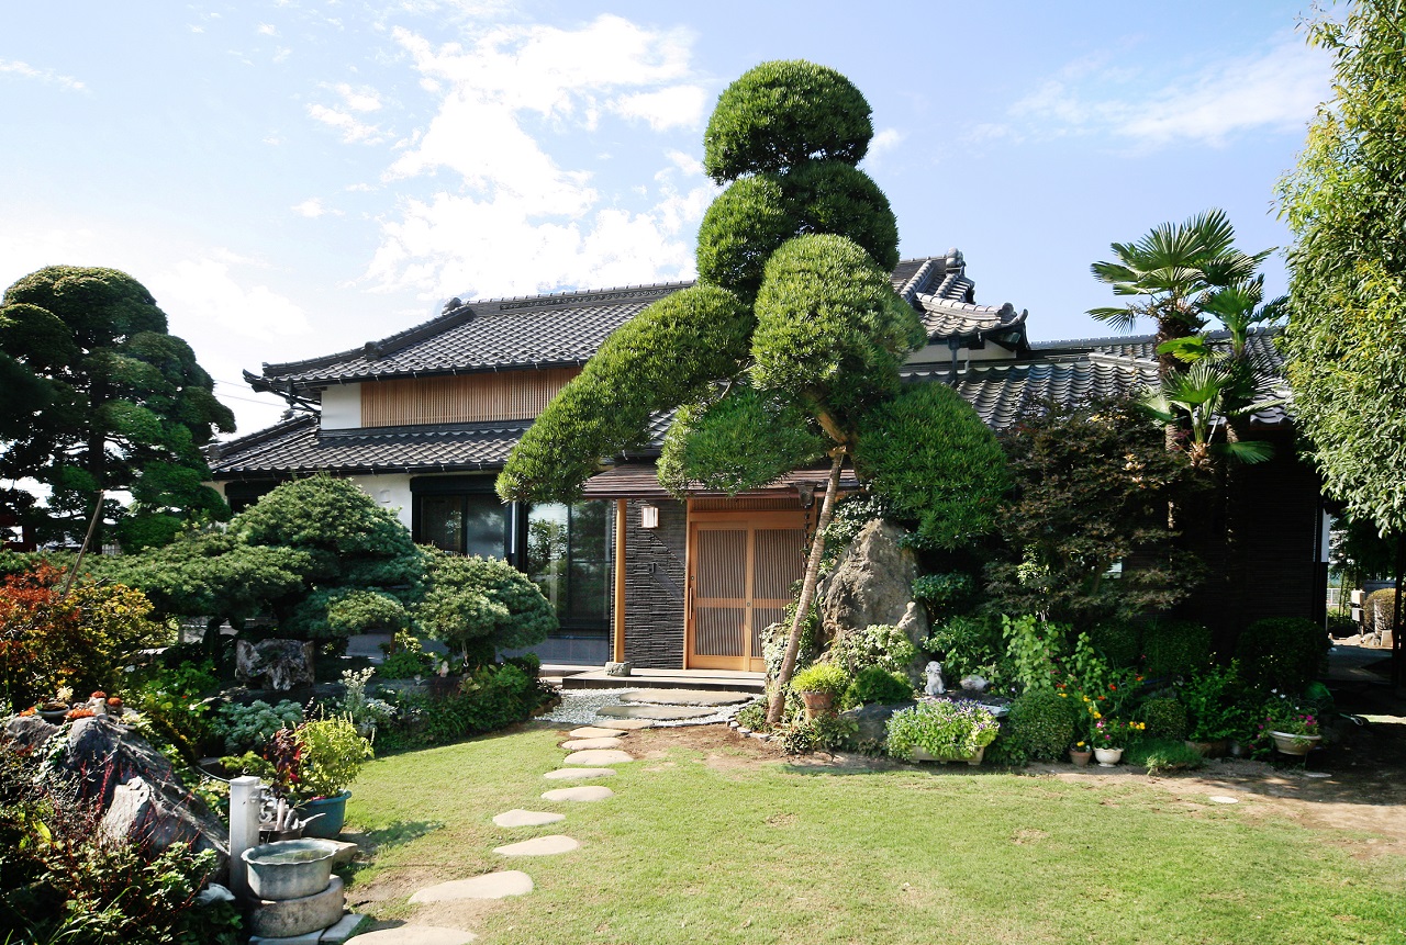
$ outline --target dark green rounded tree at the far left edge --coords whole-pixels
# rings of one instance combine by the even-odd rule
[[[15,490],[0,507],[41,538],[80,536],[97,491],[131,490],[129,510],[107,504],[124,545],[170,541],[195,520],[229,510],[204,480],[200,448],[233,414],[166,315],[117,270],[51,265],[0,300],[0,479],[52,487],[48,507]]]

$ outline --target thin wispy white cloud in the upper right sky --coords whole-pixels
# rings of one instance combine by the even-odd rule
[[[1033,133],[1052,136],[1112,135],[1140,147],[1178,140],[1220,146],[1249,131],[1301,131],[1327,98],[1331,74],[1329,56],[1296,37],[1260,55],[1157,76],[1156,84],[1144,72],[1081,60],[1015,103],[1011,115]]]

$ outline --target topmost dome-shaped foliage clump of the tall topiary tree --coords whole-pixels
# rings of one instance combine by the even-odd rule
[[[858,164],[873,133],[869,103],[834,69],[763,62],[718,95],[703,133],[703,170],[721,184],[813,159]]]

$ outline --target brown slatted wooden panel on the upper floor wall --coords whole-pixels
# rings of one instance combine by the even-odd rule
[[[361,425],[531,420],[578,374],[551,368],[363,383]]]

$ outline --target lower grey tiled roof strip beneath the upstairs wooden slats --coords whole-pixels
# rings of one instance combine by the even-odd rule
[[[340,473],[496,469],[526,424],[387,427],[318,432],[304,414],[219,444],[209,463],[215,479],[332,470]]]

